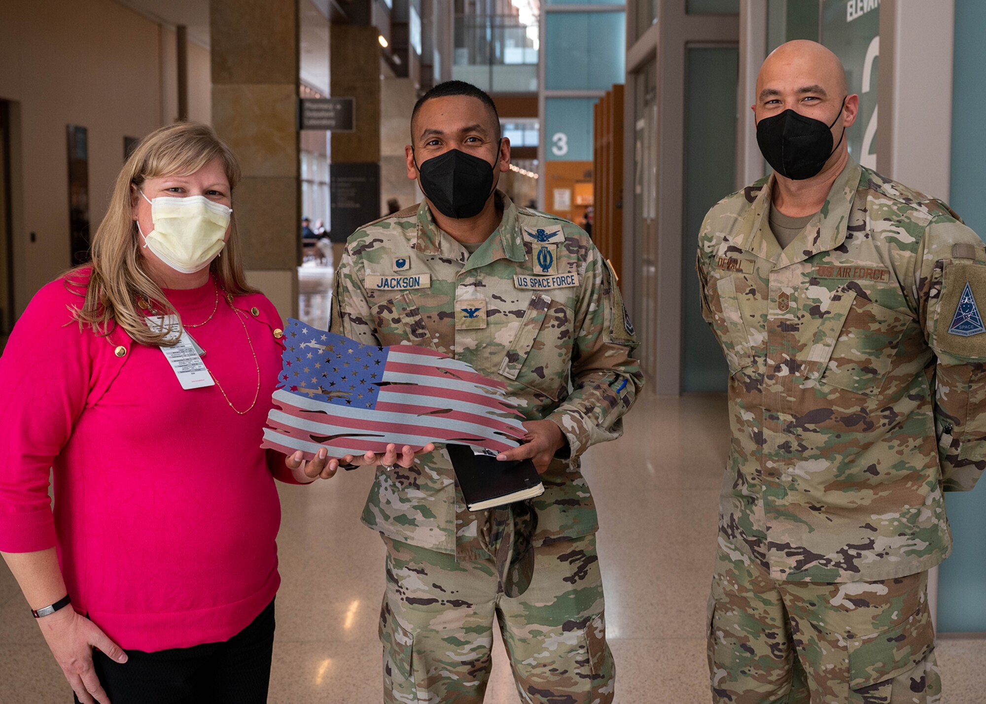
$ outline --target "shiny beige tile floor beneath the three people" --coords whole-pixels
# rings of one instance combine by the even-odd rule
[[[316,312],[319,303],[308,305]],[[619,704],[709,701],[705,599],[728,446],[723,397],[648,395],[627,418],[625,436],[585,458],[599,506]],[[384,546],[359,523],[372,476],[356,470],[314,486],[280,487],[284,582],[271,703],[381,701],[377,614]],[[496,652],[502,656],[502,646]],[[943,704],[986,701],[983,662],[986,640],[941,639]],[[0,704],[69,701],[24,598],[0,568]],[[518,701],[502,657],[486,701]]]

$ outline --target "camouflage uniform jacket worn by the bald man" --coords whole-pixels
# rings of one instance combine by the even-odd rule
[[[986,303],[986,251],[944,203],[853,162],[782,251],[773,186],[720,201],[699,236],[731,375],[720,544],[775,580],[927,570],[951,550],[943,491],[986,465],[986,329],[965,296]]]

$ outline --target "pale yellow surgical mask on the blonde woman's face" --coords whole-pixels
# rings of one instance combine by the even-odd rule
[[[140,194],[151,204],[154,222],[154,230],[147,235],[137,222],[144,246],[176,271],[184,274],[201,271],[226,245],[223,239],[230,225],[232,208],[204,195],[159,196],[151,200],[144,191]]]

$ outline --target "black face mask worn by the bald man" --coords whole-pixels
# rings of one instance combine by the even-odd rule
[[[843,98],[839,114],[828,125],[790,107],[757,122],[756,143],[767,164],[781,176],[793,180],[817,175],[846,136],[846,128],[843,127],[839,143],[832,146],[832,125],[845,106],[846,99]]]

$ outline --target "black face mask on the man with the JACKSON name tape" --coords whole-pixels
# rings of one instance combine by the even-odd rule
[[[495,166],[485,159],[458,149],[432,157],[418,167],[421,190],[428,200],[440,213],[457,220],[479,215],[493,192],[494,172]]]

